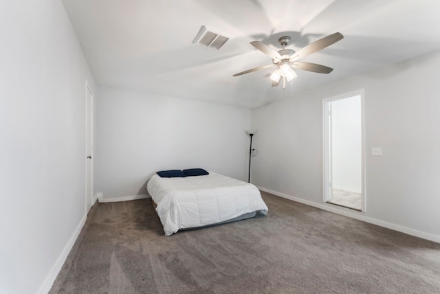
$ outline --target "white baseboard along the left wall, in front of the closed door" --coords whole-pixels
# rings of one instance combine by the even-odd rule
[[[69,239],[69,242],[67,242],[67,245],[64,247],[63,251],[61,252],[61,255],[58,257],[58,260],[56,260],[54,266],[50,270],[49,274],[47,275],[43,286],[41,286],[39,293],[46,294],[50,291],[52,288],[52,285],[55,282],[56,276],[61,271],[61,268],[63,267],[64,262],[67,259],[67,256],[69,255],[70,251],[72,250],[72,247],[74,247],[74,244],[76,242],[76,239],[80,235],[81,229],[83,229],[85,220],[87,219],[87,214],[83,216],[83,218],[80,220],[80,223],[76,227],[74,233]]]

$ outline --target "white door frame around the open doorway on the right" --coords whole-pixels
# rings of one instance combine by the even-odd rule
[[[327,202],[331,199],[331,156],[330,156],[330,122],[329,122],[329,106],[330,103],[344,98],[350,98],[360,95],[360,124],[361,124],[361,181],[362,181],[362,212],[366,212],[366,172],[365,172],[365,109],[364,109],[364,89],[335,95],[330,98],[322,99],[322,201]]]

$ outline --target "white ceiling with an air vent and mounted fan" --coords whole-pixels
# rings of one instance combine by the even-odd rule
[[[439,0],[63,0],[100,86],[253,108],[320,84],[440,49]],[[231,36],[192,44],[201,25]],[[297,70],[271,87],[272,60],[252,45],[298,50],[334,32],[344,39],[303,58],[331,74]]]

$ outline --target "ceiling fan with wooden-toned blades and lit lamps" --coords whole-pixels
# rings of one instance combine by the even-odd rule
[[[316,63],[305,63],[300,60],[307,55],[310,55],[314,52],[317,52],[325,47],[328,47],[340,40],[342,40],[344,36],[342,34],[334,33],[324,38],[320,38],[318,41],[310,43],[306,47],[295,52],[292,49],[285,49],[285,46],[289,43],[289,36],[282,36],[278,39],[283,49],[278,52],[272,49],[271,47],[261,43],[260,41],[253,41],[251,45],[259,49],[264,54],[267,54],[272,58],[272,65],[264,65],[262,67],[255,67],[253,69],[248,69],[247,71],[241,71],[238,74],[234,74],[232,76],[241,76],[243,74],[249,74],[252,71],[259,71],[260,69],[267,69],[270,67],[277,67],[275,71],[270,75],[270,79],[272,80],[272,87],[278,86],[281,82],[281,78],[283,78],[283,89],[285,88],[286,80],[293,80],[296,78],[296,73],[294,69],[303,69],[305,71],[313,71],[319,74],[329,74],[333,69],[331,67],[326,67],[324,65],[317,65]]]

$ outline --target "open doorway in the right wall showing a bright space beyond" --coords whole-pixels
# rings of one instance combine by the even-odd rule
[[[324,100],[324,201],[365,211],[363,93]]]

